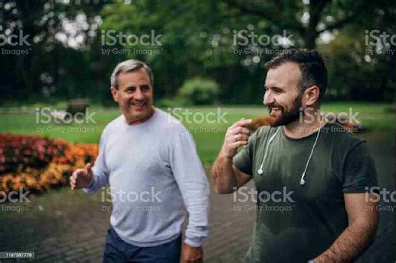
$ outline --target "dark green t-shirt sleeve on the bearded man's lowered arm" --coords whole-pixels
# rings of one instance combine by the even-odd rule
[[[366,192],[378,186],[374,159],[366,141],[360,142],[346,156],[343,192]]]

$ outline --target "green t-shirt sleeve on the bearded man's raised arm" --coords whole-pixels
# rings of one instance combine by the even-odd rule
[[[255,141],[255,137],[257,136],[257,132],[258,130],[249,137],[247,145],[242,147],[242,150],[240,150],[232,159],[235,167],[248,175],[253,174],[253,143]]]

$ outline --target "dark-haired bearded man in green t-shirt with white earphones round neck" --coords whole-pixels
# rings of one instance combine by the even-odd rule
[[[266,64],[271,126],[250,137],[251,120],[228,129],[213,165],[215,190],[255,182],[258,208],[245,262],[350,262],[375,233],[378,199],[367,191],[378,185],[375,164],[366,140],[318,114],[327,86],[322,57],[286,51]]]

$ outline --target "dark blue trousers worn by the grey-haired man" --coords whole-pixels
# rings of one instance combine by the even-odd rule
[[[181,235],[169,243],[152,247],[137,247],[122,240],[110,227],[107,231],[104,263],[179,263],[181,254]]]

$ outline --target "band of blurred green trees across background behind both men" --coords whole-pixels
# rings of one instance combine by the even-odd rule
[[[329,80],[337,91],[332,99],[394,100],[394,55],[371,56],[369,61],[364,57],[366,30],[394,34],[394,2],[33,2],[0,0],[0,35],[23,30],[31,44],[2,46],[2,50],[29,51],[27,55],[2,55],[0,70],[7,76],[2,83],[3,106],[10,101],[55,104],[78,97],[114,105],[109,76],[117,63],[131,58],[152,68],[154,100],[160,104],[169,105],[169,101],[159,100],[175,97],[193,76],[215,80],[221,103],[261,103],[264,63],[286,46],[273,42],[262,46],[258,38],[282,36],[285,31],[293,42],[288,48],[316,47],[329,55]],[[66,29],[71,25],[74,33]],[[150,40],[149,45],[125,44],[125,39],[121,43],[118,38],[115,44],[104,44],[110,30],[114,30],[113,37],[119,33],[151,36],[154,32],[160,36],[160,44]],[[246,30],[246,44],[236,44],[241,40],[240,30]],[[325,34],[333,38],[330,43],[321,42]],[[76,42],[76,36],[79,43],[68,45],[67,40]],[[394,46],[390,48],[394,50]],[[370,86],[380,88],[370,90]]]

